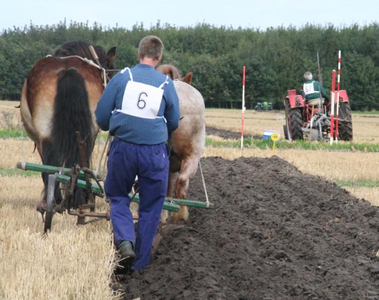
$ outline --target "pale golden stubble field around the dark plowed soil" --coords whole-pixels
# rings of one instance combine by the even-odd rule
[[[40,163],[34,144],[20,137],[18,102],[0,101],[0,298],[87,299],[110,298],[111,264],[114,259],[110,222],[77,227],[75,218],[58,215],[53,231],[42,236],[42,218],[35,206],[42,180],[32,172],[15,170],[20,160]],[[283,112],[246,111],[245,132],[261,136],[264,129],[281,130]],[[207,109],[206,125],[238,132],[240,111]],[[354,141],[379,143],[379,115],[353,114]],[[12,137],[15,136],[15,137]],[[208,140],[224,140],[210,135]],[[228,140],[226,140],[228,141]],[[229,140],[232,142],[231,140]],[[103,140],[101,140],[101,143]],[[23,157],[24,153],[24,157]],[[379,153],[354,151],[276,149],[275,155],[318,180],[336,182],[356,198],[379,205]],[[94,161],[97,151],[95,147]],[[203,157],[269,158],[270,148],[206,147]],[[245,179],[248,181],[248,179]],[[251,181],[254,179],[251,179]],[[235,183],[238,185],[238,182]],[[308,183],[309,184],[309,183]],[[265,182],[262,183],[265,185]],[[268,187],[275,189],[274,186]],[[215,203],[217,205],[217,203]],[[100,210],[106,205],[100,204]]]

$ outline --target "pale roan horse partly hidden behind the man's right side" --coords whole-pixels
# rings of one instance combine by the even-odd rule
[[[205,147],[205,106],[200,92],[192,87],[192,72],[188,73],[183,81],[179,71],[171,65],[162,65],[158,71],[169,75],[174,80],[176,92],[179,97],[180,115],[183,117],[179,127],[172,132],[170,144],[170,174],[167,196],[172,197],[175,188],[175,197],[185,199],[189,181],[197,170],[200,157]],[[167,211],[161,217],[166,222]],[[181,206],[178,213],[173,213],[168,222],[178,224],[189,221],[188,209]]]

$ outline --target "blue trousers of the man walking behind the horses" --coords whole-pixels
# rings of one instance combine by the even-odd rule
[[[116,243],[126,240],[134,246],[133,270],[145,268],[150,261],[153,239],[167,194],[168,173],[169,157],[165,143],[140,145],[113,140],[104,188],[106,197],[110,199],[110,218]],[[140,186],[137,237],[128,196],[136,175]]]

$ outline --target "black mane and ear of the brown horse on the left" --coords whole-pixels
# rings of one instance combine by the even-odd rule
[[[95,58],[92,56],[91,51],[89,50],[90,44],[82,41],[69,42],[59,46],[54,50],[53,56],[55,57],[67,57],[72,55],[77,55],[80,57],[88,58],[95,62]],[[99,62],[102,66],[106,65],[106,53],[104,48],[101,46],[94,46],[96,54],[99,57]]]

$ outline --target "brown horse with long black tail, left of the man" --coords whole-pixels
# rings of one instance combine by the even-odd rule
[[[21,118],[44,165],[71,168],[80,163],[75,131],[86,138],[87,160],[92,153],[98,132],[94,110],[104,86],[101,70],[80,58],[95,61],[88,47],[84,42],[62,45],[54,56],[38,61],[24,82]],[[113,69],[115,47],[106,55],[101,47],[94,48],[101,66]],[[48,174],[43,173],[42,179],[43,207]],[[55,191],[55,201],[60,203],[60,191],[58,188]]]

